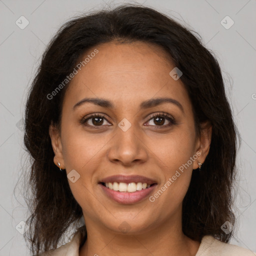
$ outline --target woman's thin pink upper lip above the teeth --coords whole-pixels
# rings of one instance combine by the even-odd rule
[[[141,182],[141,183],[147,183],[147,184],[153,184],[156,183],[155,180],[148,178],[148,177],[144,177],[144,176],[140,176],[140,175],[112,175],[112,176],[108,176],[103,178],[100,182],[123,182],[123,183],[131,183],[131,182]]]

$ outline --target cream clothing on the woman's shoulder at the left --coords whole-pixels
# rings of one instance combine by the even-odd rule
[[[39,256],[63,256],[63,255],[79,256],[79,242],[80,242],[80,233],[76,231],[73,234],[72,239],[68,243],[56,249],[42,252],[39,254]]]

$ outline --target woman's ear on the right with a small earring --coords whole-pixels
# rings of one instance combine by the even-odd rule
[[[200,135],[196,146],[196,152],[200,152],[200,154],[198,153],[197,159],[193,161],[193,169],[197,169],[199,167],[197,161],[200,163],[204,162],[210,150],[211,133],[212,125],[210,121],[200,123]]]

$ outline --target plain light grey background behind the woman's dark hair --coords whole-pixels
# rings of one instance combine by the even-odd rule
[[[0,256],[29,255],[22,229],[26,205],[13,189],[27,157],[22,142],[22,117],[28,87],[45,45],[67,19],[84,11],[131,1],[0,0]],[[134,3],[134,1],[132,1]],[[230,243],[256,251],[256,1],[255,0],[143,0],[147,6],[174,17],[197,31],[222,68],[228,99],[241,134],[234,193],[237,226]],[[23,15],[29,24],[20,29]],[[226,16],[234,24],[226,29]],[[224,19],[225,20],[225,19]],[[229,21],[224,21],[230,24]],[[16,225],[17,229],[16,229]]]

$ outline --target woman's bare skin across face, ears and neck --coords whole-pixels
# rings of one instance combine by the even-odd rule
[[[72,169],[80,174],[76,182],[68,180],[88,233],[79,255],[195,255],[199,242],[182,233],[181,206],[192,169],[208,153],[211,126],[202,124],[196,136],[188,94],[181,80],[169,75],[174,66],[160,47],[112,41],[96,48],[98,53],[66,90],[61,132],[49,127],[55,164],[60,162],[67,174]],[[84,97],[108,99],[114,108],[84,103],[73,110]],[[156,97],[179,101],[183,111],[167,102],[139,108],[141,101]],[[80,123],[91,113],[105,115],[101,126],[93,119]],[[158,113],[169,114],[176,123],[168,126],[170,121],[163,119],[159,125],[151,118]],[[123,118],[131,123],[125,132],[118,127]],[[153,194],[198,151],[198,158],[154,202],[117,203],[98,184],[110,175],[138,174],[157,182]],[[126,233],[119,229],[123,221],[129,225]]]

